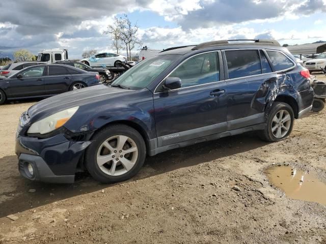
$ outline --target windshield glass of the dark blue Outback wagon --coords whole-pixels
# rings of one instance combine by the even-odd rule
[[[138,65],[119,76],[113,86],[125,86],[130,89],[147,87],[160,73],[166,70],[179,55],[160,55],[143,60]]]

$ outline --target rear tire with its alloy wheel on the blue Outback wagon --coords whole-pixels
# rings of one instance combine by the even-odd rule
[[[280,120],[280,116],[283,119]],[[285,118],[287,119],[284,121]],[[267,116],[265,129],[259,131],[258,135],[268,142],[281,141],[290,135],[293,124],[294,113],[291,106],[287,103],[274,102]]]

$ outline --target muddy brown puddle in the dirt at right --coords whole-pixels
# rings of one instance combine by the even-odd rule
[[[326,205],[326,184],[315,172],[305,172],[289,166],[276,166],[265,170],[269,182],[292,199],[319,202]]]

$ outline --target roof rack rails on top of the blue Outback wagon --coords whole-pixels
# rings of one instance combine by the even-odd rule
[[[212,42],[204,42],[195,47],[192,50],[203,49],[207,47],[214,47],[219,45],[227,45],[227,44],[248,44],[248,41],[252,41],[252,44],[265,44],[265,45],[274,45],[281,46],[280,43],[276,40],[268,40],[268,39],[237,39],[237,40],[221,40],[221,41],[212,41]],[[236,43],[230,43],[236,42]]]

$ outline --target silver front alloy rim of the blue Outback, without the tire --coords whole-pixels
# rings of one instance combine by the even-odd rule
[[[106,139],[98,148],[96,162],[100,170],[111,176],[127,173],[138,159],[138,147],[127,136],[118,135]]]

